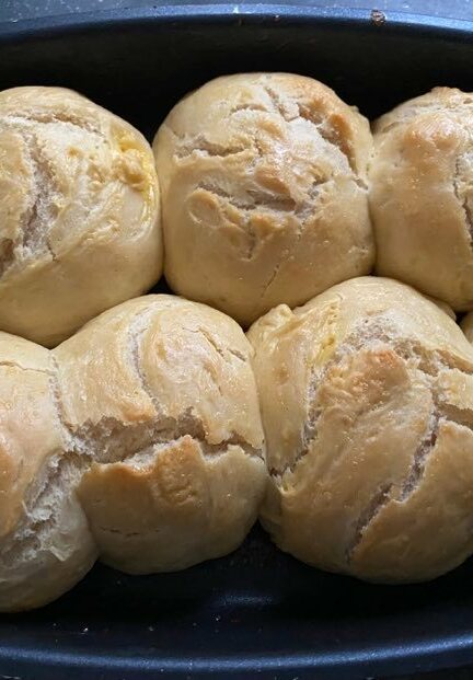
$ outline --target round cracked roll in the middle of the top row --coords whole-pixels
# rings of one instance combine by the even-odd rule
[[[170,286],[247,325],[369,273],[371,146],[311,78],[229,76],[186,96],[153,142]]]

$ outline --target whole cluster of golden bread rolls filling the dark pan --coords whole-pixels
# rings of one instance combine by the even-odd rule
[[[473,553],[472,116],[438,88],[371,131],[246,73],[151,149],[70,90],[0,92],[0,611],[97,558],[224,555],[258,514],[372,581]],[[136,297],[163,268],[189,300]]]

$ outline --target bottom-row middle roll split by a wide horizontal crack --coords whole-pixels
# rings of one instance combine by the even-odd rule
[[[235,549],[266,481],[251,347],[238,324],[146,296],[54,356],[65,422],[93,461],[79,496],[102,560],[143,574]]]

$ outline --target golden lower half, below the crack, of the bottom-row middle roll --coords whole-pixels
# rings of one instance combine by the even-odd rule
[[[240,545],[255,520],[263,471],[239,446],[205,454],[185,435],[148,456],[93,465],[80,498],[104,562],[131,574],[170,572]]]

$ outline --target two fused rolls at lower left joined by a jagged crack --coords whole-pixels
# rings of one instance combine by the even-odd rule
[[[0,611],[44,604],[97,555],[143,574],[234,550],[266,468],[251,346],[171,296],[53,351],[0,334]]]

